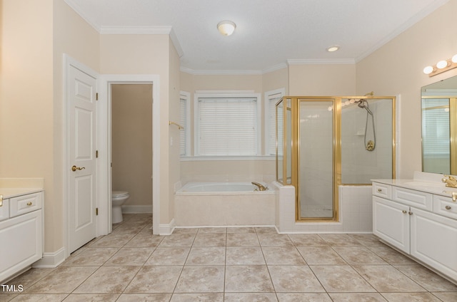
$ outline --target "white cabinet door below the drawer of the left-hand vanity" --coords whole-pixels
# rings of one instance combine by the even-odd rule
[[[0,282],[43,256],[41,209],[0,222]]]

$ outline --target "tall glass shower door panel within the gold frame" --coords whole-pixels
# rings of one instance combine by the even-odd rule
[[[298,106],[298,220],[333,220],[336,101],[298,99]]]

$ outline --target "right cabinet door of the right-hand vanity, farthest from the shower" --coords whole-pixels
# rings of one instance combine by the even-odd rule
[[[411,256],[457,280],[457,221],[411,208]]]

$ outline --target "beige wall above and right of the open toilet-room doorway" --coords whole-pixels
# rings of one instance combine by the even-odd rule
[[[100,72],[103,74],[159,75],[160,100],[160,217],[169,224],[173,214],[169,209],[170,160],[169,100],[170,100],[170,38],[166,34],[102,34],[100,36]]]

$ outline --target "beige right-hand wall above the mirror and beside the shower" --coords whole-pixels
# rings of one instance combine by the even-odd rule
[[[421,86],[457,75],[457,69],[429,78],[425,66],[457,53],[457,0],[450,0],[422,21],[357,63],[357,93],[400,95],[397,178],[421,171]]]

